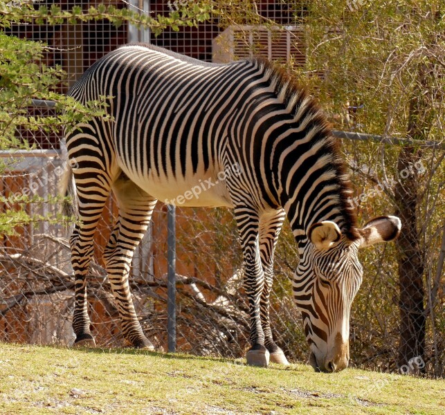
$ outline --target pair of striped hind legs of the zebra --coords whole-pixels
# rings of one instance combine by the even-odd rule
[[[105,142],[98,144],[98,136],[106,139]],[[119,217],[104,251],[109,282],[125,339],[134,347],[152,348],[134,311],[128,275],[134,250],[143,238],[156,201],[120,172],[109,137],[109,124],[94,120],[91,124],[82,124],[72,136],[66,136],[79,198],[79,223],[70,239],[75,273],[75,345],[95,345],[90,331],[86,278],[93,255],[94,233],[112,189],[119,206]]]

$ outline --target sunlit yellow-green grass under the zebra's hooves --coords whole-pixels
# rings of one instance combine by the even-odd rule
[[[0,414],[443,414],[445,382],[0,343]]]

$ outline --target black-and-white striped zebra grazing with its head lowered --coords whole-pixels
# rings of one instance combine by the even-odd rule
[[[130,44],[87,69],[69,95],[82,104],[107,97],[109,115],[79,122],[65,137],[72,168],[64,194],[77,198],[79,219],[70,239],[75,345],[96,344],[86,277],[110,192],[119,212],[103,259],[122,334],[131,347],[154,349],[131,301],[131,258],[156,201],[178,201],[194,186],[212,183],[181,203],[233,209],[251,329],[247,363],[289,364],[269,320],[273,255],[287,217],[298,244],[293,298],[309,362],[317,371],[347,367],[349,312],[363,276],[358,249],[395,239],[401,222],[381,216],[357,227],[337,141],[304,88],[259,57],[210,64]],[[235,165],[240,174],[217,180]]]

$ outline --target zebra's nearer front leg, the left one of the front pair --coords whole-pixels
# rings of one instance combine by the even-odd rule
[[[248,365],[269,365],[269,351],[264,347],[264,332],[260,316],[260,297],[264,286],[264,274],[258,247],[258,216],[255,210],[235,208],[235,219],[241,239],[244,257],[244,291],[248,297],[251,319],[250,342],[246,360]]]

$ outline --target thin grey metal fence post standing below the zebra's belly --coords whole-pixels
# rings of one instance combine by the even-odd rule
[[[176,351],[176,208],[167,209],[167,344],[168,351]]]

